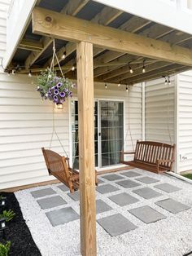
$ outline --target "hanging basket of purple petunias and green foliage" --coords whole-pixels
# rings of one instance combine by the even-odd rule
[[[65,77],[58,77],[54,71],[47,68],[37,77],[37,91],[42,99],[50,99],[55,104],[62,104],[72,97],[73,83]]]

